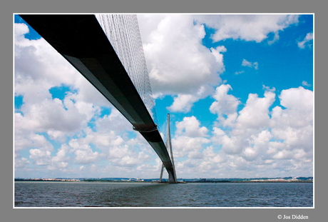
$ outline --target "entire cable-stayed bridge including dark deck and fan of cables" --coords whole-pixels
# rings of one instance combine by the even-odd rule
[[[169,182],[176,183],[173,156],[153,120],[155,104],[136,16],[20,16],[130,121],[160,157]]]

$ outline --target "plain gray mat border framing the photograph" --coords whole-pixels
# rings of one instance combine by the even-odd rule
[[[301,214],[307,221],[325,221],[327,211],[327,1],[236,1],[225,2],[204,0],[166,0],[166,1],[23,1],[12,0],[1,3],[1,133],[0,133],[0,171],[1,171],[1,221],[280,221],[278,215]],[[315,18],[315,208],[281,209],[13,209],[12,181],[12,21],[13,13],[314,13]],[[327,220],[327,219],[326,219]]]

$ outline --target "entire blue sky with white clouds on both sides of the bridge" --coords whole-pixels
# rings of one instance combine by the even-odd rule
[[[138,23],[178,178],[313,176],[312,14],[138,14]],[[13,115],[15,178],[160,176],[153,148],[18,15]]]

